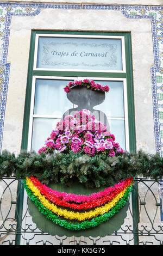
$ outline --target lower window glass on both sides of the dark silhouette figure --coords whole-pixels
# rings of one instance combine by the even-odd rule
[[[36,80],[35,90],[35,107],[34,114],[54,114],[60,115],[66,110],[72,108],[72,103],[67,99],[64,87],[68,81],[62,80]],[[109,93],[105,94],[105,101],[94,109],[103,111],[108,118],[110,131],[116,137],[116,141],[120,143],[123,149],[125,145],[125,128],[124,120],[112,120],[111,118],[124,119],[124,103],[123,103],[123,82],[122,81],[96,81],[103,85],[108,85]],[[50,118],[34,118],[33,122],[33,138],[32,149],[41,148],[55,125],[60,120]]]

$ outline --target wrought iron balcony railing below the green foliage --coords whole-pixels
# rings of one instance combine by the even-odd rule
[[[121,228],[105,237],[51,236],[38,229],[28,214],[22,180],[0,182],[0,245],[163,245],[159,180],[137,178]]]

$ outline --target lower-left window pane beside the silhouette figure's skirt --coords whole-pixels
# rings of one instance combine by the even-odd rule
[[[42,148],[46,139],[55,129],[60,119],[53,118],[34,118],[33,119],[33,133],[32,133],[32,150],[36,152]]]

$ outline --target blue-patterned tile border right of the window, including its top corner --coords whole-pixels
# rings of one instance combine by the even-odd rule
[[[163,6],[122,8],[128,19],[151,19],[154,67],[151,68],[156,153],[163,153]]]

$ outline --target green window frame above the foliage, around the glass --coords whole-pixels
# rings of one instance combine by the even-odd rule
[[[34,69],[34,55],[35,55],[35,40],[37,34],[58,34],[58,35],[89,35],[89,36],[123,36],[125,47],[125,71],[64,71],[64,70],[37,70]],[[24,120],[22,132],[22,145],[21,149],[28,147],[28,132],[29,132],[29,119],[30,119],[30,100],[32,94],[32,80],[33,76],[49,76],[49,77],[96,77],[96,78],[114,78],[120,80],[126,79],[127,84],[127,106],[128,106],[128,133],[129,133],[129,151],[136,150],[135,142],[135,116],[134,116],[134,90],[133,90],[133,66],[131,58],[131,35],[130,33],[110,33],[110,32],[71,32],[71,31],[32,31],[30,41],[28,77],[27,77],[27,90],[26,101],[24,106]]]

